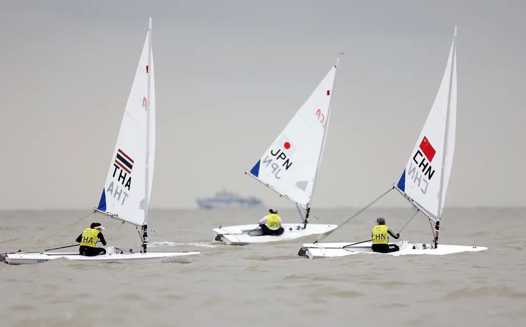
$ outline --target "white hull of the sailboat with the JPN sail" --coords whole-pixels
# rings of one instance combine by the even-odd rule
[[[224,242],[228,245],[238,246],[256,243],[286,241],[294,240],[309,235],[326,234],[338,227],[338,225],[307,224],[307,228],[304,229],[303,224],[286,223],[283,224],[283,228],[285,229],[285,231],[279,236],[262,235],[261,228],[258,227],[258,224],[249,224],[214,228],[214,240]]]

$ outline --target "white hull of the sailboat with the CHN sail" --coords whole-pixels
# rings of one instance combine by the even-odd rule
[[[392,244],[397,244],[400,247],[399,251],[390,253],[378,253],[371,250],[371,242],[351,245],[356,242],[347,243],[307,243],[299,250],[298,256],[309,259],[344,257],[351,254],[359,253],[376,253],[386,254],[388,256],[404,256],[406,254],[431,254],[434,256],[443,256],[444,254],[460,253],[460,252],[479,252],[488,250],[485,247],[470,247],[470,246],[453,246],[447,244],[439,244],[436,249],[432,249],[430,244],[419,244],[407,241],[400,241]]]

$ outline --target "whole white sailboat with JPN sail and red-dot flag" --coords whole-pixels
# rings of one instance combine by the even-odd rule
[[[325,234],[337,227],[308,222],[312,193],[329,127],[338,62],[339,59],[256,165],[245,170],[246,174],[294,203],[301,223],[283,223],[285,231],[279,236],[262,235],[259,224],[219,227],[214,229],[214,240],[230,245],[265,243]],[[305,218],[300,208],[305,210]]]

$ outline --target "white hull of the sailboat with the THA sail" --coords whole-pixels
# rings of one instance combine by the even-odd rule
[[[146,253],[115,253],[115,248],[106,248],[107,253],[102,256],[80,256],[78,252],[41,252],[41,253],[6,253],[5,262],[9,264],[36,264],[49,260],[64,258],[78,262],[89,263],[155,263],[177,262],[190,263],[200,252],[146,252]]]

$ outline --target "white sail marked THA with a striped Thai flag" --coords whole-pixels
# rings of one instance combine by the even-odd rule
[[[148,193],[151,193],[155,158],[155,89],[153,69],[148,67],[148,50],[147,34],[98,205],[98,210],[138,226],[144,222],[148,73],[152,74]],[[153,56],[151,63],[153,66]]]

